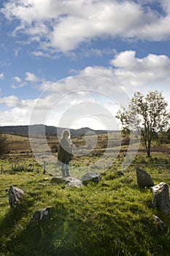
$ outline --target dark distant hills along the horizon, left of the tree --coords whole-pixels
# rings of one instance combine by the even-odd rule
[[[61,132],[63,131],[63,129],[65,129],[65,128],[60,128],[60,127],[47,126],[47,125],[44,125],[44,124],[34,124],[34,125],[31,125],[30,128],[31,128],[31,130],[34,130],[37,133],[39,131],[44,132],[44,129],[45,129],[45,134],[46,135],[56,135],[57,132],[58,132],[59,135],[61,135]],[[12,134],[12,135],[28,136],[28,130],[29,130],[28,125],[0,127],[0,132],[1,133]],[[94,130],[94,129],[90,129],[88,127],[84,127],[84,128],[80,128],[80,129],[70,129],[70,132],[71,132],[72,136],[85,135],[85,133],[87,133],[87,132],[95,132],[96,134],[107,133],[106,130]]]

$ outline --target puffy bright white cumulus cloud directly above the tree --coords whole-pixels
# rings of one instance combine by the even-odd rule
[[[117,53],[110,61],[110,67],[86,67],[77,71],[80,75],[101,75],[117,80],[126,91],[156,86],[169,86],[170,59],[166,55],[148,54],[142,59],[134,50]],[[162,87],[163,88],[163,87]]]

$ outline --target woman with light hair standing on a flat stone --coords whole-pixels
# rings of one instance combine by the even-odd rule
[[[72,147],[69,129],[64,129],[58,146],[58,165],[61,165],[63,177],[69,176],[69,162],[73,156]]]

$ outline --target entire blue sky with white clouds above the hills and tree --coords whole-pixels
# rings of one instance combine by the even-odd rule
[[[118,129],[135,91],[170,105],[169,0],[1,0],[0,126]]]

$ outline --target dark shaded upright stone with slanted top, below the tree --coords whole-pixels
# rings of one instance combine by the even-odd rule
[[[136,177],[139,188],[150,188],[154,186],[152,178],[146,170],[142,170],[139,167],[136,167]]]

